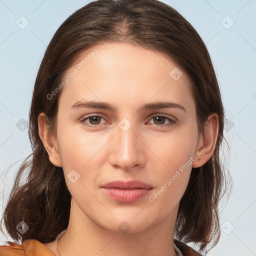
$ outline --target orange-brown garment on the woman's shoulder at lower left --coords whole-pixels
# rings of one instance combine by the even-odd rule
[[[18,244],[7,241],[0,246],[0,256],[55,256],[43,243],[35,239],[27,239]]]

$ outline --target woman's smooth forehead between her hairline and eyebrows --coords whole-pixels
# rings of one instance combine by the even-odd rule
[[[83,97],[130,104],[151,98],[173,98],[181,103],[184,97],[189,103],[192,97],[190,78],[169,56],[124,42],[90,47],[77,57],[63,79],[66,76],[69,78],[61,97],[69,105]]]

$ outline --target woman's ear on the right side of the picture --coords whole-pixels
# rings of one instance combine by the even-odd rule
[[[202,166],[213,154],[218,135],[218,115],[212,113],[208,116],[204,124],[204,140],[200,135],[197,148],[198,157],[193,161],[192,167]],[[200,154],[198,153],[200,152]]]

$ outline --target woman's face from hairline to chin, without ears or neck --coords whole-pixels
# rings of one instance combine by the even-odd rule
[[[75,212],[116,232],[176,217],[200,139],[185,71],[160,52],[106,42],[67,76],[56,143]],[[116,180],[148,187],[105,185]]]

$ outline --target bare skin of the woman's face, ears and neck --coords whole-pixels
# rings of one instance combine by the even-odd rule
[[[44,243],[55,255],[174,256],[174,227],[179,201],[186,189],[192,167],[203,165],[212,155],[218,132],[217,115],[212,113],[205,126],[205,139],[198,133],[190,79],[170,57],[121,42],[93,46],[90,61],[62,88],[59,98],[56,137],[52,139],[38,117],[39,135],[50,161],[63,168],[72,195],[70,219],[56,251],[56,241]],[[178,80],[169,72],[182,71]],[[81,100],[104,101],[116,111],[74,108]],[[171,101],[178,107],[137,111],[144,103]],[[81,119],[88,114],[103,118]],[[164,114],[174,118],[153,116]],[[123,131],[118,123],[126,118],[131,126]],[[88,125],[100,124],[98,127]],[[169,177],[200,149],[184,172],[155,199],[149,201]],[[70,182],[67,174],[75,169],[80,177]],[[100,188],[106,182],[140,180],[153,187],[135,202],[118,202]],[[130,229],[118,226],[126,221]],[[96,254],[97,253],[97,254]]]

